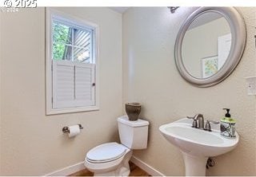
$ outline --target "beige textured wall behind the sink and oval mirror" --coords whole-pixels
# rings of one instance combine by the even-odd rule
[[[219,120],[222,108],[237,119],[240,142],[234,151],[214,157],[207,175],[256,175],[255,96],[247,96],[245,77],[256,73],[254,26],[256,8],[238,8],[246,21],[247,42],[242,60],[222,83],[197,88],[182,79],[174,63],[179,26],[195,8],[130,8],[123,15],[123,102],[142,103],[141,116],[150,121],[149,146],[134,155],[165,175],[185,175],[182,154],[158,127],[201,112]]]

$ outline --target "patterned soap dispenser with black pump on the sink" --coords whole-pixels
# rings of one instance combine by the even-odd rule
[[[229,138],[235,137],[235,127],[234,124],[236,123],[234,119],[231,118],[230,115],[230,108],[223,108],[226,110],[225,117],[223,117],[221,122],[221,135],[226,136]]]

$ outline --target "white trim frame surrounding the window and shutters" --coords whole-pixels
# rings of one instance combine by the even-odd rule
[[[53,108],[53,78],[52,78],[52,22],[53,18],[61,19],[72,26],[81,28],[85,26],[93,30],[93,60],[95,64],[95,105],[77,108]],[[80,27],[79,27],[80,26]],[[81,18],[74,17],[70,14],[54,10],[54,8],[46,7],[46,115],[71,113],[71,112],[88,112],[99,110],[99,28],[98,25],[87,22]]]

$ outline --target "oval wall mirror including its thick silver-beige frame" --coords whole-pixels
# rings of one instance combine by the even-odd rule
[[[246,43],[246,27],[233,7],[201,7],[183,22],[175,43],[182,77],[209,87],[232,73]]]

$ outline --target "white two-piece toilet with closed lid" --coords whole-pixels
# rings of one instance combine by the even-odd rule
[[[129,160],[133,149],[146,149],[149,122],[128,116],[118,117],[121,144],[116,142],[98,145],[87,152],[85,166],[94,176],[128,176]]]

